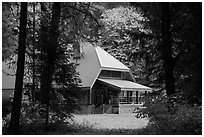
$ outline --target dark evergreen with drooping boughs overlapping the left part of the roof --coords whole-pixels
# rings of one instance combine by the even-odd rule
[[[61,8],[63,3],[55,4],[52,4],[51,20],[47,18],[49,13],[46,10],[43,11],[43,14],[48,16],[44,16],[41,20],[41,102],[46,104],[46,126],[49,122],[48,117],[52,117],[52,115],[53,117],[58,116],[62,121],[72,117],[71,113],[78,109],[73,88],[76,88],[80,83],[75,71],[76,66],[69,61],[70,50],[68,44],[72,44],[73,41],[69,41],[69,37],[67,37],[67,34],[70,35],[69,32],[65,32],[66,29],[64,28],[67,26],[62,27],[64,23],[62,19],[69,21],[69,18],[61,16],[61,13],[65,12],[63,11],[64,7]],[[42,5],[46,4],[42,3]],[[69,14],[66,15],[69,16]],[[71,15],[74,16],[74,13]],[[74,26],[75,24],[70,25]],[[76,33],[78,33],[77,29]],[[62,34],[65,34],[66,37]],[[49,110],[52,113],[49,113]]]

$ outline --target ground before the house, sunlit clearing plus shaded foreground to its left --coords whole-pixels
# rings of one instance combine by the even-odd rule
[[[126,121],[126,122],[124,122]],[[142,134],[142,127],[145,122],[141,122],[134,115],[75,115],[75,122],[70,124],[52,123],[44,129],[44,123],[32,123],[23,125],[21,133],[23,135],[137,135]],[[143,120],[145,121],[145,120]],[[126,127],[127,124],[132,128]],[[103,124],[108,124],[102,126]],[[143,126],[141,126],[142,124]],[[140,125],[140,126],[139,126]],[[135,126],[133,128],[133,126]],[[112,128],[111,128],[112,127]]]

